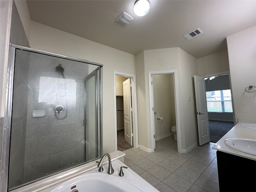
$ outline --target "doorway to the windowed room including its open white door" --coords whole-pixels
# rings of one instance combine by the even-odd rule
[[[199,145],[216,143],[233,126],[228,72],[194,76]]]

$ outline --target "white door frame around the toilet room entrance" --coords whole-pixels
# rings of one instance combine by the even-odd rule
[[[178,152],[182,152],[181,148],[181,131],[180,131],[180,106],[179,106],[179,97],[178,97],[178,77],[177,70],[170,71],[152,71],[148,72],[148,85],[149,85],[149,101],[150,101],[150,130],[151,130],[151,149],[154,152],[154,129],[155,129],[155,119],[154,119],[154,100],[153,100],[153,91],[151,86],[152,75],[162,75],[162,74],[173,74],[174,80],[174,100],[175,100],[175,113],[176,113],[176,126],[177,126],[177,144]]]

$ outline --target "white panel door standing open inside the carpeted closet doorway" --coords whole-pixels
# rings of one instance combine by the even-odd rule
[[[131,102],[131,80],[128,78],[123,82],[124,96],[124,140],[131,146],[132,143],[132,102]]]

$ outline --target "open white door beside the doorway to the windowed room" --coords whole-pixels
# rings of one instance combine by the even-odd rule
[[[196,116],[198,126],[199,145],[210,142],[210,129],[206,104],[205,80],[203,77],[194,76],[196,94]]]

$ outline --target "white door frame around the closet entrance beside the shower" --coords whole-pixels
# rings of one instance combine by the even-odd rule
[[[114,71],[114,132],[115,132],[115,151],[117,151],[117,118],[116,118],[116,75],[124,76],[131,79],[132,87],[132,129],[133,129],[133,146],[138,148],[138,116],[137,116],[137,93],[136,93],[136,76]]]

